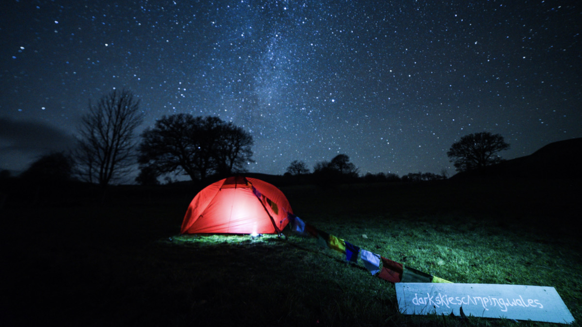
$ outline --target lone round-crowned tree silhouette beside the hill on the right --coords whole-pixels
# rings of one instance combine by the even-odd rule
[[[501,157],[496,154],[508,148],[509,144],[505,143],[501,135],[483,131],[463,136],[460,141],[453,143],[446,155],[456,170],[463,172],[501,162]]]

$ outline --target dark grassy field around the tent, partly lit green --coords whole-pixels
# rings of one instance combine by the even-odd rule
[[[404,265],[452,282],[553,286],[580,324],[580,181],[281,189],[304,221]],[[178,236],[196,192],[118,187],[107,204],[81,191],[9,196],[0,325],[554,325],[401,315],[391,283],[289,232]]]

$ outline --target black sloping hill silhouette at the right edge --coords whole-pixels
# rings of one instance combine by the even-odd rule
[[[503,161],[483,169],[460,172],[451,178],[582,178],[582,138],[545,145],[533,154]]]

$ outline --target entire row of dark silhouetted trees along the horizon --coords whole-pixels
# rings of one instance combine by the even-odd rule
[[[139,99],[131,91],[113,90],[100,101],[88,104],[81,119],[77,146],[69,154],[48,154],[34,162],[22,176],[29,179],[63,180],[76,176],[102,187],[119,182],[139,165],[140,184],[157,184],[168,174],[187,175],[192,180],[246,172],[252,159],[253,137],[232,122],[218,117],[194,117],[188,113],[162,116],[140,138],[135,130],[143,123]],[[502,160],[498,152],[509,148],[499,134],[481,132],[463,136],[447,152],[457,171],[478,169]],[[8,173],[2,172],[6,177]],[[313,173],[302,161],[293,161],[285,175],[313,175],[316,180],[355,180],[359,169],[346,154],[314,165]],[[52,177],[51,177],[52,176]],[[364,180],[435,180],[433,173],[367,173]]]

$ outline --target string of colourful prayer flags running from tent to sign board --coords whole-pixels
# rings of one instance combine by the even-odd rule
[[[302,221],[296,215],[288,213],[288,219],[292,225],[291,229],[293,232],[310,234],[317,239],[317,243],[321,247],[331,248],[332,250],[345,254],[346,261],[357,262],[358,257],[360,257],[365,268],[368,269],[372,276],[378,274],[378,278],[388,280],[392,283],[450,283],[448,280],[432,276],[411,267],[406,267],[400,262],[389,260],[381,257],[379,254],[354,246],[348,241],[315,228],[309,223]],[[381,266],[380,263],[382,263]]]

